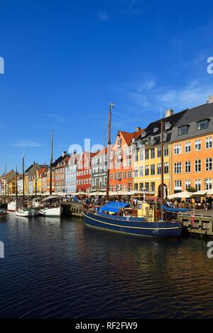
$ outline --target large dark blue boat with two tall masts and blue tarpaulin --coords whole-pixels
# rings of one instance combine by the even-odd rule
[[[114,104],[109,104],[109,125],[108,125],[108,169],[107,169],[107,201],[109,201],[109,154],[111,145],[111,108]],[[125,211],[129,206],[126,203],[108,202],[96,213],[83,212],[84,223],[89,227],[111,232],[119,232],[135,236],[167,237],[178,238],[181,235],[181,226],[178,221],[164,220],[163,216],[163,119],[161,120],[161,212],[160,219],[155,217],[155,205],[153,205],[151,218],[144,218],[143,213],[148,208],[149,203],[138,204],[138,217],[121,216],[120,211]]]

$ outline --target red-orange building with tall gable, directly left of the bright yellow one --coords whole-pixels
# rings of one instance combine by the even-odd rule
[[[132,191],[132,150],[133,142],[141,136],[143,130],[136,132],[119,131],[110,152],[109,191]]]

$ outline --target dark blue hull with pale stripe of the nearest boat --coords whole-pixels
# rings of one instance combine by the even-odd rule
[[[182,227],[179,222],[134,222],[106,218],[97,214],[83,212],[84,223],[89,227],[120,232],[141,237],[178,238]]]

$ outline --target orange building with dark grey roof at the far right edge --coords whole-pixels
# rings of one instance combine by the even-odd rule
[[[172,193],[194,188],[212,188],[213,179],[213,99],[190,108],[173,128]]]

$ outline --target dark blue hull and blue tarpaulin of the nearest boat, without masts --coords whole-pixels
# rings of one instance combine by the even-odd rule
[[[182,228],[178,221],[150,222],[146,220],[146,218],[112,215],[119,214],[120,210],[126,207],[128,207],[128,205],[125,203],[109,202],[97,211],[97,213],[84,212],[84,223],[89,227],[134,236],[180,237]],[[138,211],[140,212],[140,207]]]

